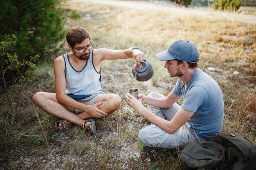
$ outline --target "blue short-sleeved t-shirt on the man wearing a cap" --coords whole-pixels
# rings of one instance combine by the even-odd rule
[[[172,92],[182,95],[182,108],[195,112],[188,123],[198,136],[208,139],[220,134],[224,116],[223,95],[211,76],[197,68],[186,89],[185,83],[179,79]]]

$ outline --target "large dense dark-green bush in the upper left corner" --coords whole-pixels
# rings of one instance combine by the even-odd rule
[[[14,34],[17,37],[12,53],[20,60],[29,60],[36,54],[42,59],[54,54],[62,47],[67,18],[58,7],[63,0],[1,0],[0,38]],[[75,13],[75,12],[74,12]]]

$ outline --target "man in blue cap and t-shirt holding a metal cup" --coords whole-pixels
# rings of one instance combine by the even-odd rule
[[[171,77],[179,79],[167,97],[157,92],[139,94],[138,102],[127,93],[130,106],[151,123],[139,131],[139,149],[146,152],[153,147],[184,147],[219,135],[224,115],[223,95],[213,78],[197,68],[197,47],[187,40],[178,40],[156,57],[166,61],[164,67]],[[181,97],[180,106],[175,102]]]

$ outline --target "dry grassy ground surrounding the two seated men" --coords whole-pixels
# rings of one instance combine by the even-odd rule
[[[54,122],[57,118],[31,101],[37,91],[54,92],[53,61],[49,58],[40,63],[34,81],[22,91],[18,110],[11,112],[6,98],[0,97],[1,170],[180,170],[180,149],[158,149],[152,154],[138,150],[138,132],[149,122],[125,99],[131,87],[139,88],[145,95],[151,91],[168,95],[177,77],[169,77],[164,62],[158,61],[155,54],[180,39],[190,40],[198,46],[199,68],[211,75],[222,89],[225,101],[222,133],[236,133],[256,142],[255,15],[173,6],[160,8],[138,1],[124,6],[119,2],[123,1],[115,5],[67,1],[62,7],[67,11],[76,10],[83,17],[69,20],[66,26],[85,28],[92,37],[94,48],[138,46],[145,53],[145,59],[153,64],[152,79],[136,81],[131,71],[132,59],[104,61],[101,67],[103,90],[117,93],[122,98],[121,107],[108,117],[96,119],[96,137],[79,126],[56,133]],[[59,55],[65,52],[67,48]],[[207,71],[208,67],[215,71]],[[234,74],[234,71],[239,73]]]

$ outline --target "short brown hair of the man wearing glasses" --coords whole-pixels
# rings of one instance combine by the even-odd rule
[[[66,35],[67,43],[72,47],[76,44],[80,44],[86,38],[89,38],[89,40],[91,39],[89,33],[81,27],[72,27]]]

